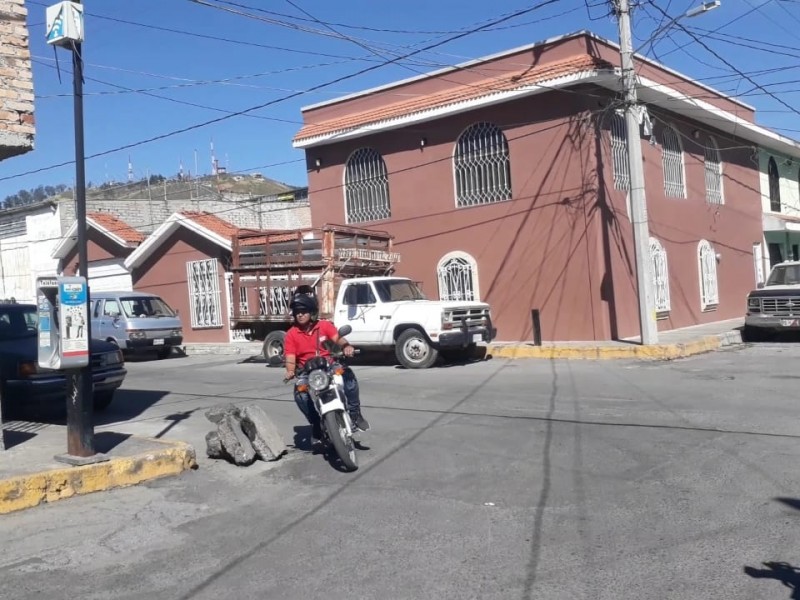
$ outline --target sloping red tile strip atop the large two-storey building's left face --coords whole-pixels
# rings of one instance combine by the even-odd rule
[[[343,130],[355,129],[364,125],[377,123],[386,119],[398,118],[424,110],[441,108],[450,104],[474,100],[498,92],[513,91],[524,88],[537,82],[572,75],[596,68],[613,68],[611,63],[589,55],[575,56],[566,60],[557,61],[540,67],[534,67],[510,77],[508,73],[499,77],[492,77],[473,85],[461,85],[451,89],[425,96],[403,100],[372,110],[347,115],[345,117],[330,119],[317,123],[307,123],[294,137],[295,141],[304,140],[318,135],[325,135]],[[313,114],[313,112],[311,113]],[[313,117],[312,117],[313,118]]]

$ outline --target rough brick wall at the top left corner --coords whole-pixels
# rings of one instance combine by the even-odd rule
[[[23,0],[0,0],[0,160],[33,149],[33,75],[26,15]]]

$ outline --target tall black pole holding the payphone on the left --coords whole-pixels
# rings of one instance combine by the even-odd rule
[[[78,230],[78,270],[89,279],[89,257],[86,238],[86,165],[83,147],[83,56],[81,44],[72,47],[72,88],[75,113],[75,219]],[[86,314],[89,314],[89,293],[86,294]],[[91,347],[92,320],[86,319],[86,337]],[[91,348],[89,351],[91,357]],[[67,398],[67,454],[89,457],[95,454],[92,364],[70,373]]]

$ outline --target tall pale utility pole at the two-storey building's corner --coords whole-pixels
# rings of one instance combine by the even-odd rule
[[[631,221],[633,247],[636,257],[636,283],[639,299],[639,330],[643,345],[658,343],[655,302],[653,299],[652,258],[650,256],[650,230],[647,222],[647,200],[644,190],[642,143],[639,135],[636,72],[633,64],[631,42],[631,13],[628,0],[619,0],[619,50],[622,60],[622,85],[625,100],[625,129],[628,143],[628,160],[631,174]]]

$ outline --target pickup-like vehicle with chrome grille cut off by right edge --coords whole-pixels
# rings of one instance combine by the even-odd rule
[[[745,337],[759,340],[780,331],[800,331],[800,261],[782,262],[747,295]]]

